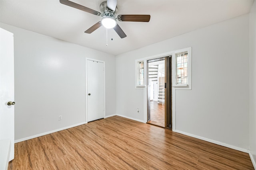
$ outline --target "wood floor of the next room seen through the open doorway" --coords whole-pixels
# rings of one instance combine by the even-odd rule
[[[161,127],[165,127],[164,122],[164,104],[158,104],[156,101],[150,102],[150,123],[152,125],[157,125]]]

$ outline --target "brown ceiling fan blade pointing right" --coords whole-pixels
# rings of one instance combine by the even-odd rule
[[[118,21],[149,22],[150,15],[119,15]]]

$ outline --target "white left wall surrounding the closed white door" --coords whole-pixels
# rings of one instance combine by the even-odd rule
[[[14,33],[16,141],[86,121],[85,57],[106,62],[106,116],[116,114],[113,55],[4,23],[0,27]]]

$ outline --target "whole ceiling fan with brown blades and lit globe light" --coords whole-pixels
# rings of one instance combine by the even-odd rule
[[[116,6],[117,0],[107,0],[100,4],[100,11],[95,11],[90,8],[87,8],[85,6],[82,6],[80,4],[76,4],[74,2],[71,2],[69,0],[60,0],[61,4],[71,6],[73,8],[76,8],[78,10],[82,10],[85,12],[89,12],[90,14],[94,14],[96,16],[101,16],[101,21],[98,21],[96,24],[92,25],[89,29],[84,31],[85,33],[92,33],[96,29],[98,29],[100,26],[104,26],[108,29],[113,28],[116,33],[120,36],[120,38],[126,37],[126,34],[121,29],[121,27],[118,25],[116,20],[118,21],[135,21],[135,22],[149,22],[150,15],[116,15],[118,8]]]

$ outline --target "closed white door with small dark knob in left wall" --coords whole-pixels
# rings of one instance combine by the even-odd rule
[[[104,63],[87,60],[87,121],[104,118]]]

